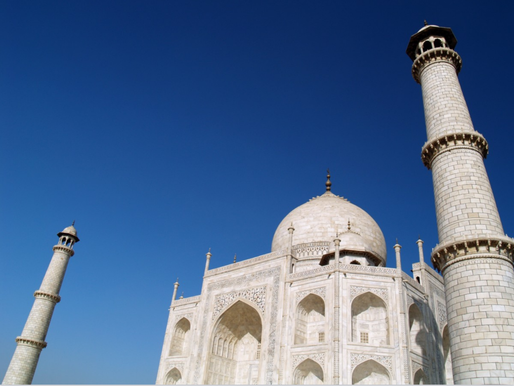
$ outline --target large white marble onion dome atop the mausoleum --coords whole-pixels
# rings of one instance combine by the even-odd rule
[[[348,221],[350,230],[348,230]],[[292,223],[295,231],[292,235],[293,249],[307,243],[331,243],[339,232],[340,250],[369,252],[375,255],[383,266],[386,265],[386,240],[375,220],[358,206],[347,199],[325,192],[293,209],[284,217],[273,236],[271,251],[288,247],[288,237]]]

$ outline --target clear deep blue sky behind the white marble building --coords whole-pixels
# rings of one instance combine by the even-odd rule
[[[0,377],[58,241],[75,247],[34,383],[154,383],[173,283],[268,253],[324,192],[381,227],[394,267],[437,244],[421,88],[405,53],[451,27],[505,231],[512,2],[0,3]],[[428,258],[427,258],[428,260]],[[410,273],[410,272],[409,272]]]

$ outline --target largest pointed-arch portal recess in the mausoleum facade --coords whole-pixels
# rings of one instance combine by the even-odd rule
[[[262,320],[238,300],[219,318],[211,335],[207,384],[256,384],[261,362]]]

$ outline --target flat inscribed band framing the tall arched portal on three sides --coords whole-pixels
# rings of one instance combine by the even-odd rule
[[[239,263],[236,263],[239,264]],[[234,264],[232,264],[234,265]],[[223,267],[222,267],[223,268]],[[212,291],[224,287],[241,285],[244,283],[251,282],[253,280],[272,278],[273,283],[271,285],[271,313],[268,315],[269,320],[269,335],[268,335],[268,350],[267,350],[267,363],[266,363],[266,383],[270,384],[273,381],[273,359],[275,356],[275,341],[277,335],[277,313],[279,304],[279,285],[280,285],[280,267],[267,269],[264,271],[254,272],[247,275],[241,275],[239,277],[228,279],[216,283],[211,283],[207,286],[207,292],[205,295],[205,304],[211,304]],[[209,307],[204,307],[204,315],[201,319],[200,338],[198,344],[198,355],[195,363],[193,384],[198,384],[198,377],[201,372],[201,357],[204,350],[205,334],[207,330],[207,317],[209,314]]]

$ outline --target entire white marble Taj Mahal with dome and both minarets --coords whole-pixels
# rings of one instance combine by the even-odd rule
[[[278,225],[269,253],[210,269],[209,250],[198,296],[177,298],[177,279],[156,384],[514,383],[514,240],[458,82],[456,43],[450,28],[426,24],[407,47],[439,237],[427,259],[417,240],[419,262],[403,267],[412,277],[398,242],[396,268],[386,267],[379,224],[333,192],[327,171],[320,195]],[[79,241],[74,226],[58,235],[4,384],[31,383],[46,346]]]

